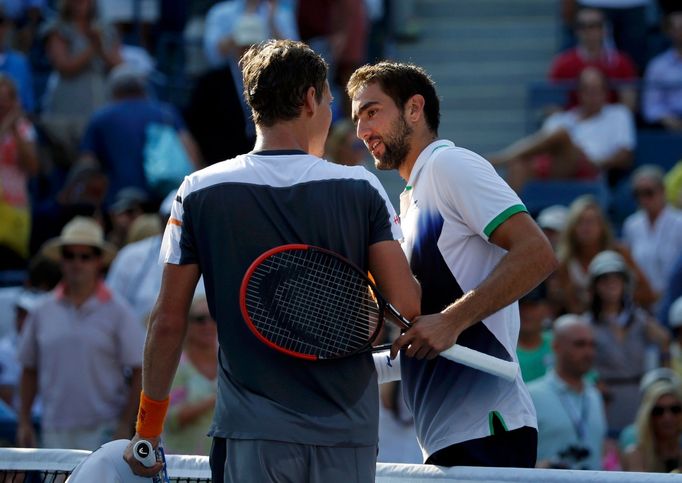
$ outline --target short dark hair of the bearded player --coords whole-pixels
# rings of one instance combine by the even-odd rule
[[[348,80],[346,92],[352,98],[362,87],[376,82],[396,106],[402,108],[410,97],[420,94],[424,98],[426,124],[438,135],[440,101],[433,80],[424,69],[413,64],[379,62],[356,70]]]

